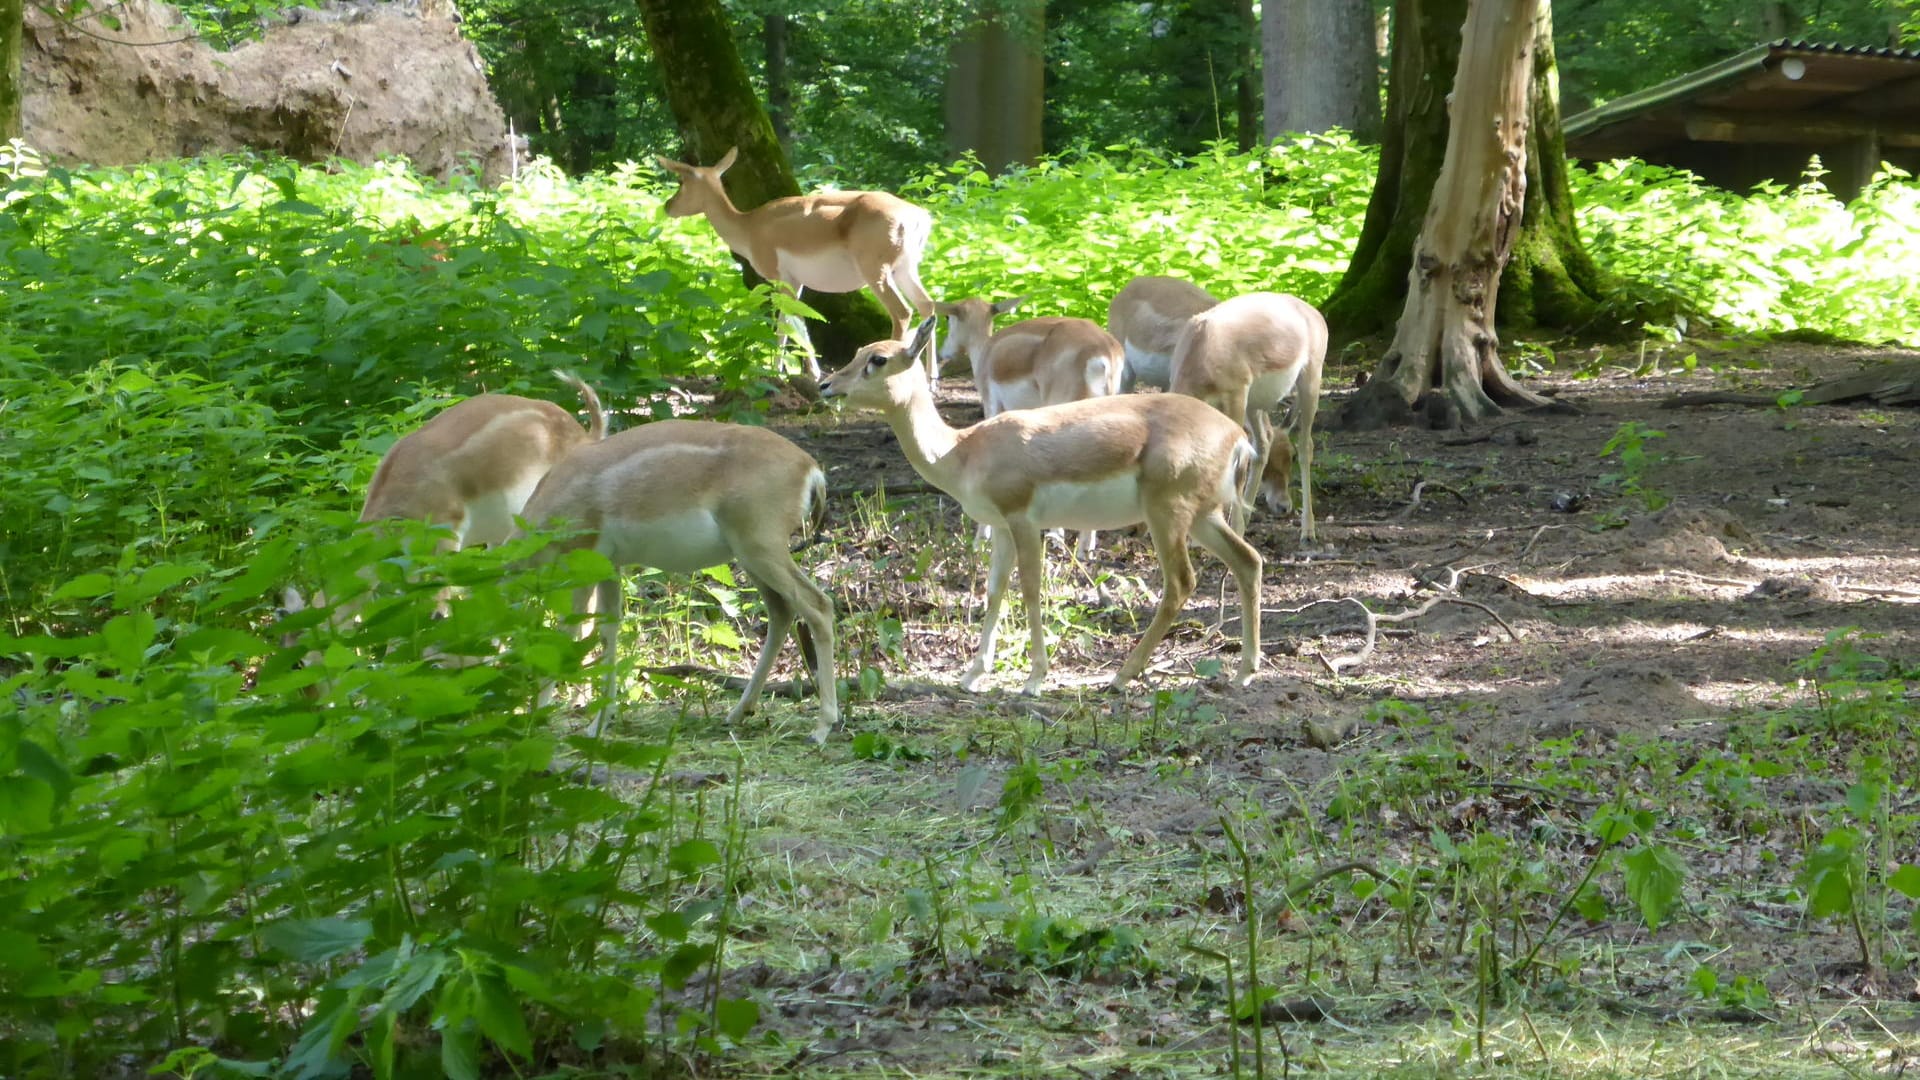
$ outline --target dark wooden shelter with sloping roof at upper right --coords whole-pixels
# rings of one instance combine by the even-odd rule
[[[1920,52],[1776,40],[1569,117],[1567,152],[1640,158],[1745,190],[1814,154],[1853,198],[1882,161],[1920,173]]]

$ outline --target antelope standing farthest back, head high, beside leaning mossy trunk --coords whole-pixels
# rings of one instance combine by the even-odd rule
[[[726,246],[747,259],[753,273],[793,290],[856,292],[866,286],[893,315],[893,336],[904,336],[918,311],[933,313],[933,298],[920,284],[920,258],[933,233],[933,215],[887,192],[814,192],[776,198],[741,211],[720,186],[720,175],[733,165],[732,148],[716,165],[687,165],[655,156],[662,169],[680,177],[680,188],[666,200],[668,217],[707,215]],[[820,379],[806,323],[795,319],[808,379]],[[781,325],[780,346],[787,331]],[[931,357],[929,357],[931,363]],[[939,373],[929,371],[937,380]]]

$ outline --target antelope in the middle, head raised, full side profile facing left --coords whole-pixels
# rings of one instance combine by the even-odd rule
[[[1188,538],[1233,571],[1240,594],[1238,682],[1252,680],[1260,665],[1261,559],[1229,521],[1242,498],[1252,498],[1256,479],[1254,448],[1240,427],[1192,398],[1140,394],[1010,409],[956,430],[935,409],[933,388],[916,359],[931,336],[927,319],[906,344],[864,346],[820,384],[820,394],[883,413],[914,471],[958,500],[968,517],[993,527],[979,651],[960,686],[972,692],[993,673],[995,628],[1016,563],[1031,659],[1021,692],[1039,694],[1046,682],[1043,528],[1119,528],[1140,521],[1152,532],[1165,582],[1154,621],[1114,673],[1112,686],[1125,686],[1146,669],[1154,646],[1192,596]]]

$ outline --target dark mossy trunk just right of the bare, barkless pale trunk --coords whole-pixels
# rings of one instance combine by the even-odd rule
[[[1526,140],[1526,213],[1507,273],[1500,279],[1500,319],[1507,327],[1619,329],[1638,319],[1609,306],[1607,275],[1594,265],[1574,229],[1567,138],[1559,117],[1553,10],[1549,0],[1540,0],[1534,27],[1534,113]]]

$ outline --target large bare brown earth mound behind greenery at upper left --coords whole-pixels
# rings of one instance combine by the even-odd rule
[[[511,169],[507,117],[445,0],[296,8],[232,52],[156,0],[71,23],[29,4],[25,31],[27,144],[61,163],[252,148],[301,161],[401,154],[436,177]]]

